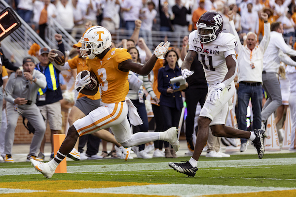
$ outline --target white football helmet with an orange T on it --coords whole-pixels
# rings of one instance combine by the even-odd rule
[[[80,38],[80,53],[83,58],[94,59],[112,44],[111,33],[102,26],[88,28]]]

